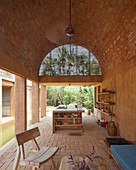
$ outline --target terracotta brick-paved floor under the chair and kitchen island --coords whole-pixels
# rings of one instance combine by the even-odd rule
[[[117,165],[112,159],[107,157],[107,153],[98,145],[100,139],[105,139],[107,130],[96,124],[96,119],[93,116],[83,117],[83,129],[84,132],[81,136],[70,136],[68,134],[52,134],[52,120],[50,116],[47,116],[41,120],[41,122],[32,125],[31,127],[38,126],[41,132],[41,136],[37,138],[40,146],[58,146],[59,151],[54,156],[54,162],[56,164],[56,170],[59,167],[61,158],[65,155],[80,155],[85,157],[90,154],[92,147],[95,146],[97,155],[102,156],[110,170],[119,170]],[[29,155],[31,150],[31,142],[25,144],[26,155]],[[16,154],[16,142],[15,139],[7,145],[7,147],[0,151],[0,170],[11,170]],[[19,170],[32,169],[31,167],[19,166]],[[40,170],[54,170],[51,168],[50,161],[44,164]]]

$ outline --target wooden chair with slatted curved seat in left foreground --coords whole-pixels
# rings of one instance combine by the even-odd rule
[[[38,127],[31,130],[19,133],[16,135],[17,140],[17,153],[13,166],[13,170],[17,170],[18,165],[31,166],[33,169],[40,168],[42,164],[51,159],[52,166],[55,167],[53,162],[53,155],[58,151],[58,147],[39,147],[36,142],[36,137],[40,136]],[[32,140],[36,150],[33,150],[34,154],[25,158],[24,143]]]

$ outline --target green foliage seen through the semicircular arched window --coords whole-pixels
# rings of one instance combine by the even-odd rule
[[[74,48],[71,49],[71,55],[66,47],[58,48],[57,58],[52,57],[51,53],[46,56],[42,65],[44,65],[43,75],[99,75],[101,74],[98,61],[85,54],[76,55]]]

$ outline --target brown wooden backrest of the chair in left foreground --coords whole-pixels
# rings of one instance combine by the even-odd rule
[[[17,139],[18,145],[22,145],[25,142],[32,140],[38,136],[40,136],[40,132],[39,132],[38,127],[36,127],[28,131],[16,134],[16,139]]]

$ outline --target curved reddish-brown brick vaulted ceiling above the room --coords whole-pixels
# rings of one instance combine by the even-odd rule
[[[38,75],[45,55],[69,43],[68,2],[1,0],[0,51]],[[135,0],[72,0],[72,25],[72,43],[90,50],[103,74],[136,53]]]

